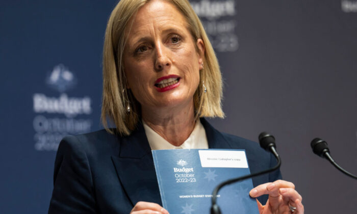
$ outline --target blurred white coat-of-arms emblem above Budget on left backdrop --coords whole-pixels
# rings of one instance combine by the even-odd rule
[[[77,79],[64,65],[59,64],[47,76],[46,83],[49,87],[64,92],[75,86]]]

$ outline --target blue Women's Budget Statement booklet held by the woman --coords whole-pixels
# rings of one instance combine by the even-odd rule
[[[250,173],[245,150],[152,150],[161,201],[170,214],[210,213],[212,191],[227,179]],[[258,214],[249,197],[251,179],[227,185],[217,195],[222,213]]]

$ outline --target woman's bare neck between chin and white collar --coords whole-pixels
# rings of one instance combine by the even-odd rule
[[[181,146],[195,127],[193,100],[186,106],[175,108],[142,108],[142,118],[170,144]]]

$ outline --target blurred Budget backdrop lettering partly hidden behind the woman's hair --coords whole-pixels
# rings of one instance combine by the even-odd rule
[[[219,52],[236,51],[238,49],[238,36],[235,32],[236,2],[196,0],[190,3],[201,18],[213,48]]]

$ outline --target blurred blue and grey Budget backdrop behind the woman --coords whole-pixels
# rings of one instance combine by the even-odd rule
[[[59,140],[101,129],[101,52],[117,1],[0,1],[0,212],[46,213]],[[307,213],[354,213],[357,1],[191,1],[224,77],[221,131],[276,136]]]

